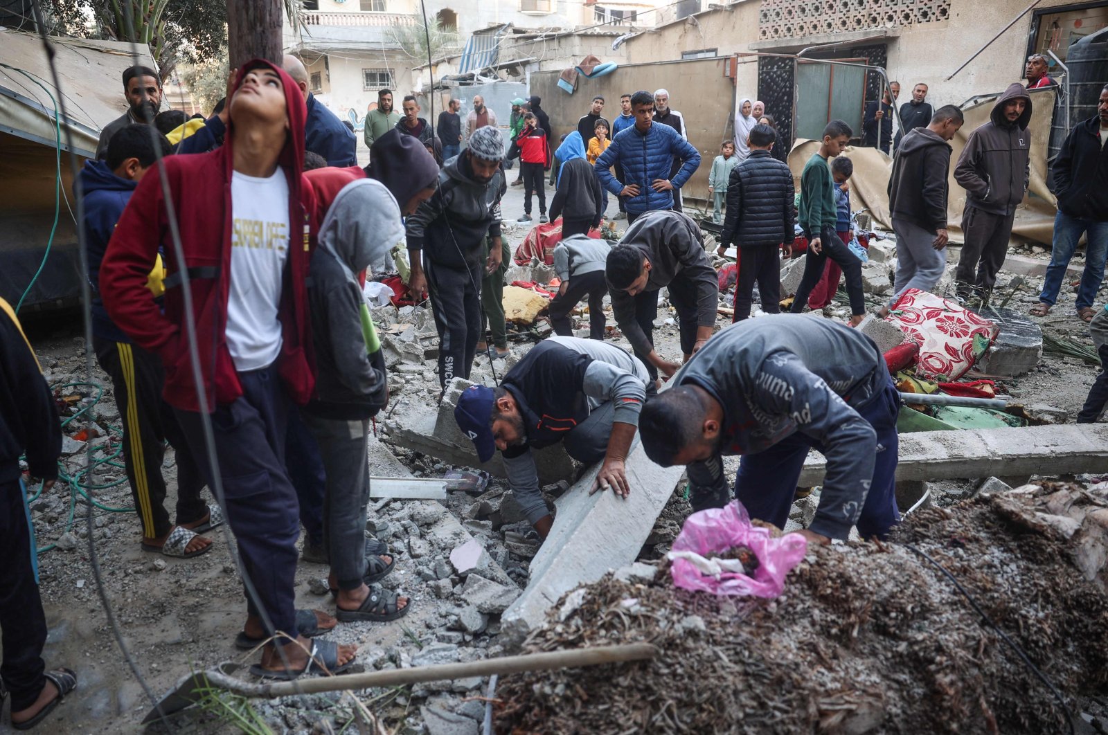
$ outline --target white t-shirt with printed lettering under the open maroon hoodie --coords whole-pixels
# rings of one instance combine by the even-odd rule
[[[235,370],[261,370],[281,348],[281,276],[288,258],[288,180],[278,167],[258,178],[233,173],[230,180],[230,292],[227,349]]]

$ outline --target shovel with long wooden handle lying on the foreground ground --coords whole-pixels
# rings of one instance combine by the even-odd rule
[[[441,682],[469,676],[491,676],[493,674],[517,674],[523,671],[547,671],[551,669],[574,669],[596,666],[605,663],[647,661],[658,655],[657,646],[649,643],[627,643],[624,645],[599,645],[591,649],[571,649],[548,653],[529,653],[517,656],[501,656],[447,663],[434,666],[413,666],[370,671],[361,674],[320,676],[294,682],[250,683],[236,679],[233,674],[245,665],[223,663],[215,669],[189,674],[177,683],[177,687],[162,697],[142,721],[143,725],[198,703],[208,690],[223,690],[245,697],[270,698],[295,694],[319,694],[362,690],[372,686],[397,686],[420,682]]]

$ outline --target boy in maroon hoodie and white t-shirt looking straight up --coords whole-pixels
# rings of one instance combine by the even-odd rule
[[[288,401],[306,403],[315,380],[305,291],[314,207],[301,175],[307,111],[293,80],[260,60],[239,70],[228,107],[223,146],[162,161],[167,191],[153,172],[140,183],[112,236],[100,287],[113,321],[161,356],[165,400],[208,484],[223,480],[224,514],[256,591],[248,590],[239,639],[261,643],[277,635],[252,671],[281,679],[336,672],[353,661],[355,646],[312,644],[307,636],[336,621],[322,612],[298,614],[293,604],[299,522],[284,457]],[[170,228],[174,218],[183,260]],[[162,242],[164,313],[145,287]],[[186,325],[186,276],[195,343]],[[205,408],[215,467],[204,441]]]

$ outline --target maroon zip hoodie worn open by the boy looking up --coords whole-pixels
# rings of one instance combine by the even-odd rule
[[[288,110],[289,134],[278,165],[288,179],[290,242],[278,312],[284,344],[277,370],[290,397],[302,405],[311,397],[315,385],[305,288],[310,258],[308,213],[315,207],[311,187],[302,177],[307,107],[296,82],[267,61],[256,59],[244,64],[235,89],[243,83],[246,72],[261,66],[280,75]],[[109,315],[136,344],[162,358],[163,395],[171,405],[184,411],[199,411],[199,401],[185,333],[183,269],[189,278],[208,407],[226,405],[243,394],[225,334],[234,121],[229,131],[224,145],[211,153],[170,156],[162,162],[168,180],[168,203],[157,169],[143,177],[112,235],[100,270],[100,290]],[[172,204],[181,234],[183,263],[173,247],[167,204]],[[146,288],[147,275],[162,244],[166,267],[164,313]]]

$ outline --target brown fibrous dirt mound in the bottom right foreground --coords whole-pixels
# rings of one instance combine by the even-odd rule
[[[647,641],[652,662],[501,683],[501,733],[1067,732],[1108,689],[1108,485],[1025,486],[927,509],[890,544],[810,548],[777,600],[611,576],[525,650]],[[565,614],[568,613],[568,614]],[[560,620],[564,615],[563,620]]]

